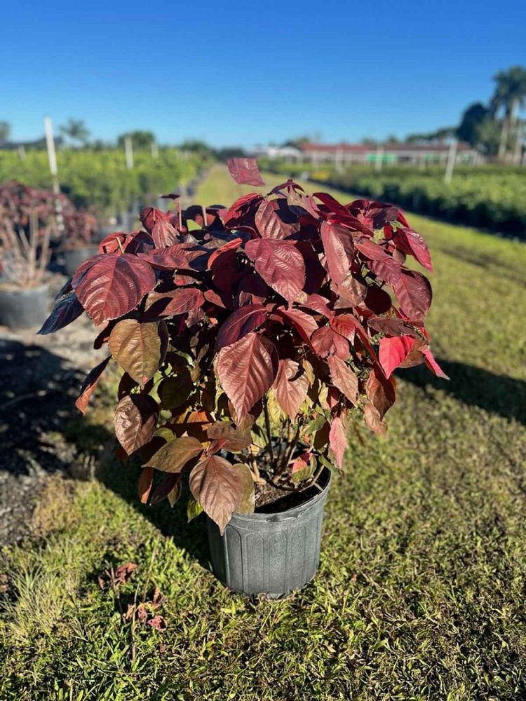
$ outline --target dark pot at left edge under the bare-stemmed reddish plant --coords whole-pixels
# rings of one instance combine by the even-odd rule
[[[10,329],[32,329],[43,324],[48,315],[48,285],[0,287],[0,325]]]

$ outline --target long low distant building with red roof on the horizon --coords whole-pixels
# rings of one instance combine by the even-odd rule
[[[287,151],[287,153],[283,153]],[[271,153],[272,152],[272,153]],[[269,158],[287,158],[297,163],[407,163],[409,165],[444,164],[450,152],[450,144],[302,144],[300,149],[265,149]],[[476,165],[483,163],[484,156],[469,144],[457,144],[457,163]]]

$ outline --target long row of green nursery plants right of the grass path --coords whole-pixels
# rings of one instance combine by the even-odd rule
[[[270,161],[264,167],[273,172],[305,171],[301,165]],[[450,184],[443,169],[419,171],[389,168],[373,172],[353,166],[336,172],[323,167],[311,170],[312,182],[330,185],[349,193],[387,200],[414,212],[439,219],[482,226],[526,238],[526,173],[511,168],[458,168]]]

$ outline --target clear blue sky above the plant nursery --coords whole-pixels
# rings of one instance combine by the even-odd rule
[[[0,120],[83,118],[214,145],[377,138],[457,123],[526,64],[526,2],[4,0]]]

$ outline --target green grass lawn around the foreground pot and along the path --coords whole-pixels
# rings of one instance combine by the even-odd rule
[[[248,190],[217,168],[199,201]],[[134,470],[105,458],[99,481],[53,479],[34,540],[4,552],[0,698],[525,697],[526,249],[410,222],[433,254],[429,328],[452,381],[400,373],[388,437],[351,434],[314,583],[285,601],[230,594],[201,517],[142,508]],[[97,573],[128,561],[118,600]],[[120,608],[154,586],[166,631],[133,629]]]

